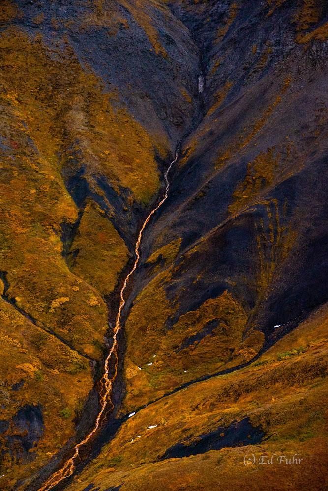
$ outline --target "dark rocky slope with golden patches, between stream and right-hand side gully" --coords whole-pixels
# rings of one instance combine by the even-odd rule
[[[293,2],[173,11],[199,47],[205,88],[126,322],[127,360],[154,362],[150,397],[248,361],[327,300],[327,43],[304,43]],[[325,15],[318,4],[319,25]]]

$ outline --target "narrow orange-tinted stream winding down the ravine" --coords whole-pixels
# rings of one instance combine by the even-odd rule
[[[76,463],[76,460],[79,458],[81,447],[83,445],[85,445],[86,443],[88,443],[89,440],[92,438],[92,436],[98,431],[98,429],[101,425],[102,417],[103,417],[105,411],[108,409],[113,409],[113,407],[114,407],[113,402],[111,400],[111,394],[112,394],[113,382],[115,381],[116,376],[118,374],[118,333],[119,333],[119,330],[121,328],[121,313],[122,313],[122,309],[123,309],[123,307],[125,305],[125,301],[126,301],[124,298],[124,291],[126,289],[126,286],[128,284],[128,281],[129,281],[131,275],[133,274],[133,272],[137,268],[137,265],[138,265],[138,262],[140,259],[139,249],[140,249],[140,245],[141,245],[142,234],[145,230],[145,227],[147,226],[152,215],[162,206],[162,204],[164,203],[164,201],[168,197],[168,192],[169,192],[169,188],[170,188],[168,175],[169,175],[169,172],[171,170],[172,165],[177,161],[177,159],[178,159],[178,153],[176,153],[175,159],[169,164],[166,172],[164,173],[164,182],[165,182],[164,197],[159,202],[159,204],[153,210],[151,210],[151,212],[149,213],[148,217],[145,219],[145,221],[144,221],[144,223],[143,223],[143,225],[139,231],[138,239],[137,239],[135,249],[134,249],[136,259],[135,259],[135,262],[133,264],[132,269],[127,274],[127,276],[124,280],[123,286],[120,290],[119,310],[118,310],[118,313],[116,316],[116,321],[115,321],[113,345],[112,345],[112,347],[108,353],[108,356],[105,360],[104,374],[100,380],[100,384],[101,384],[101,389],[99,392],[99,394],[100,394],[100,411],[99,411],[98,416],[96,418],[95,425],[94,425],[92,431],[90,431],[90,433],[75,446],[74,454],[72,455],[72,457],[70,459],[68,459],[65,462],[65,464],[57,472],[52,474],[50,476],[50,478],[46,481],[46,483],[41,488],[39,488],[38,491],[48,491],[48,490],[54,488],[55,486],[57,486],[61,481],[63,481],[67,477],[70,477],[73,475],[73,473],[76,469],[75,463]],[[113,364],[114,364],[114,366],[113,366]],[[114,368],[114,372],[112,375],[110,375],[110,368],[111,367]]]

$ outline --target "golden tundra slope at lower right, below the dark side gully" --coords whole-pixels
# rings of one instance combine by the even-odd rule
[[[141,409],[67,489],[324,490],[327,315],[326,305],[248,367]],[[253,427],[261,426],[269,439],[163,460],[177,441],[192,445],[200,435],[245,418]],[[246,454],[247,459],[254,454],[254,466],[244,465]],[[265,462],[273,454],[288,459],[298,454],[303,461],[259,463],[261,456]]]

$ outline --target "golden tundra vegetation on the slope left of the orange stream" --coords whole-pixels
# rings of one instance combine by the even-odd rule
[[[94,3],[86,25],[97,17]],[[75,436],[93,367],[103,360],[111,314],[104,298],[131,254],[97,178],[125,193],[129,219],[135,203],[147,206],[158,191],[156,159],[169,150],[164,133],[146,131],[65,36],[50,46],[40,30],[10,25],[14,18],[24,22],[18,4],[1,2],[0,407],[1,420],[12,420],[1,430],[1,485],[8,489]],[[107,18],[107,27],[115,22]],[[33,23],[42,27],[43,16]],[[63,177],[76,167],[84,167],[90,190],[83,209]],[[76,225],[65,243],[62,226]],[[42,408],[27,454],[20,447],[30,423],[14,417],[26,407]]]

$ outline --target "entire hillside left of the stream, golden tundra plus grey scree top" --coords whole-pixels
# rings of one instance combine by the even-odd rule
[[[97,414],[113,292],[194,112],[187,28],[156,3],[137,7],[1,2],[4,486]]]

